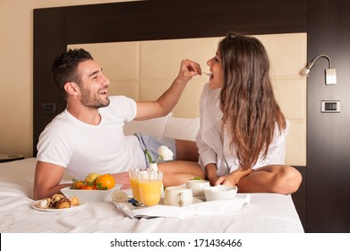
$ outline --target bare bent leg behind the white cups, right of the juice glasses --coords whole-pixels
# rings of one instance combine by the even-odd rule
[[[193,161],[168,161],[158,164],[158,169],[164,172],[164,186],[180,186],[194,177],[206,178],[200,164]]]

